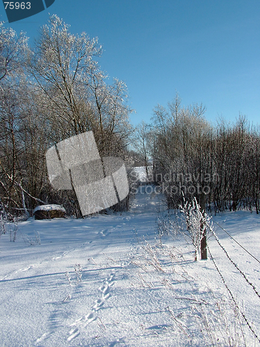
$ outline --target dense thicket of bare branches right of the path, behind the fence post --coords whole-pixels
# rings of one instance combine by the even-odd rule
[[[205,108],[182,107],[179,96],[168,108],[157,105],[153,123],[141,124],[143,158],[153,160],[150,181],[162,186],[168,206],[207,194],[215,211],[254,208],[259,213],[260,131],[239,116],[235,124],[211,126]]]

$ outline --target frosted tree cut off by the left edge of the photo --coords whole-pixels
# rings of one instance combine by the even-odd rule
[[[20,207],[17,179],[22,149],[18,130],[27,40],[24,33],[17,35],[0,23],[0,198],[7,209]]]

